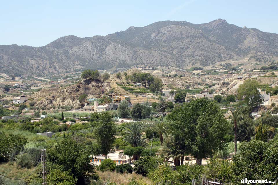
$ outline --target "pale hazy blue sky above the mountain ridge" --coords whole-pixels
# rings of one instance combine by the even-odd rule
[[[0,45],[43,46],[61,36],[91,37],[174,20],[237,26],[278,33],[276,0],[2,1]]]

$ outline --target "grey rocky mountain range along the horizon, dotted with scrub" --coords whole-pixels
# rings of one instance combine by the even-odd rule
[[[184,68],[252,54],[277,56],[278,34],[223,19],[204,24],[162,21],[107,36],[64,36],[43,47],[0,45],[0,72],[46,75],[136,64]]]

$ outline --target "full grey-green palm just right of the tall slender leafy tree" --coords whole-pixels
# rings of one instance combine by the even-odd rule
[[[133,147],[144,147],[146,145],[145,139],[142,135],[143,125],[138,123],[131,123],[124,129],[124,140]]]

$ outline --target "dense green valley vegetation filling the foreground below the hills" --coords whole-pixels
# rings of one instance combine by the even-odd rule
[[[164,103],[159,98],[153,107],[146,102],[131,109],[122,101],[119,110],[88,113],[82,121],[69,118],[72,114],[68,112],[63,112],[64,121],[51,117],[60,119],[61,112],[47,113],[39,122],[30,118],[1,120],[0,173],[23,178],[35,170],[18,183],[40,184],[40,149],[46,149],[48,184],[189,185],[204,176],[231,184],[239,184],[243,178],[275,180],[278,116],[263,114],[254,121],[250,115],[253,107],[244,106],[233,110],[228,121],[216,100],[192,100],[171,112],[167,112],[170,105]],[[150,116],[157,110],[167,114]],[[132,116],[134,122],[116,123],[116,116]],[[66,121],[73,124],[63,124]],[[52,138],[36,134],[52,131]],[[104,159],[114,149],[122,149],[134,167],[129,162],[116,165],[114,160]],[[235,149],[237,153],[231,156]],[[89,161],[99,155],[104,155],[103,162],[98,167],[91,165]],[[232,160],[226,160],[230,157]],[[196,164],[191,164],[195,159]],[[13,182],[0,177],[1,184]]]

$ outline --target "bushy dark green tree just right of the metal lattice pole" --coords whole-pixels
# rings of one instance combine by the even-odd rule
[[[81,182],[94,175],[94,165],[89,163],[90,151],[78,140],[65,138],[47,152],[50,162],[61,166],[61,171],[68,171]]]

